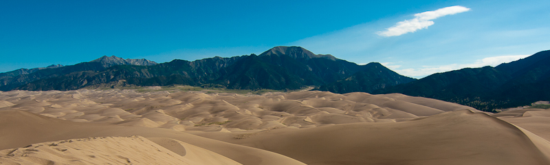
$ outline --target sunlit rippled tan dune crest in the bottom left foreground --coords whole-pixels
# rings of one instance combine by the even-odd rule
[[[89,137],[0,151],[2,164],[239,164],[168,138]],[[156,144],[155,144],[156,143]]]

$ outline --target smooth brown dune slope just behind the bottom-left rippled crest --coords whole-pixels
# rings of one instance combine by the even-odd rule
[[[210,140],[170,129],[71,122],[25,111],[0,111],[0,135],[0,149],[87,137],[140,135],[147,138],[162,137],[179,140],[223,155],[241,164],[303,164],[278,153]],[[158,142],[155,139],[153,141]]]

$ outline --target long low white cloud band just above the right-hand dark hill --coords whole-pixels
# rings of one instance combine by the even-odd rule
[[[492,66],[496,67],[496,65],[500,65],[501,63],[509,63],[511,61],[517,61],[521,58],[525,58],[529,55],[512,55],[512,56],[493,56],[493,57],[487,57],[483,58],[481,60],[477,60],[475,63],[470,64],[450,64],[450,65],[439,65],[439,66],[422,66],[421,68],[407,68],[407,69],[398,69],[400,65],[394,65],[399,66],[395,69],[392,69],[390,66],[387,66],[388,68],[391,68],[393,71],[404,75],[404,76],[410,76],[414,78],[422,78],[424,76],[428,76],[430,74],[435,73],[441,73],[441,72],[449,72],[456,69],[462,69],[465,67],[485,67],[485,66]],[[387,63],[390,64],[390,63]]]

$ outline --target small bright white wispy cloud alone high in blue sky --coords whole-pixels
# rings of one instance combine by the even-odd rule
[[[408,32],[416,32],[417,30],[426,29],[428,26],[433,25],[432,19],[437,19],[446,15],[457,14],[461,12],[467,12],[470,8],[465,8],[460,5],[453,5],[447,8],[440,8],[434,11],[421,12],[415,14],[414,19],[408,19],[398,22],[397,25],[387,28],[385,31],[377,32],[380,36],[400,36]]]

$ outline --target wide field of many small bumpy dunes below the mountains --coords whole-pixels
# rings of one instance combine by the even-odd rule
[[[0,110],[29,111],[74,122],[177,131],[261,131],[286,126],[311,128],[351,122],[399,122],[460,109],[476,111],[450,102],[399,94],[341,95],[322,91],[262,96],[89,89],[8,91],[0,93],[0,100]]]

